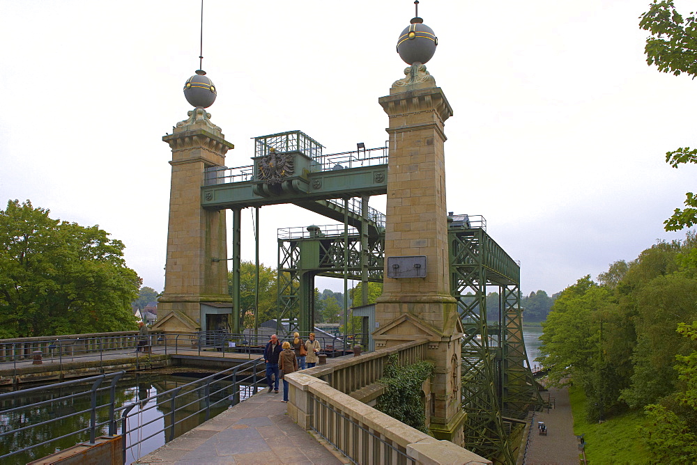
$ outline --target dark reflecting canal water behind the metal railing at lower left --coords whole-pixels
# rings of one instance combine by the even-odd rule
[[[142,457],[153,450],[163,446],[165,441],[165,434],[169,436],[171,433],[171,402],[169,401],[170,395],[165,395],[165,398],[161,400],[158,399],[158,395],[174,389],[179,386],[184,386],[192,381],[196,381],[197,377],[204,377],[210,375],[210,373],[198,374],[198,373],[138,373],[135,375],[127,375],[125,379],[118,381],[116,385],[116,408],[123,407],[129,404],[137,404],[137,406],[132,409],[128,416],[128,427],[127,431],[133,430],[126,434],[126,441],[128,446],[132,444],[139,444],[128,448],[126,452],[126,464],[131,464],[136,462],[139,457]],[[22,404],[32,404],[36,402],[41,402],[43,400],[49,400],[56,397],[66,396],[74,393],[82,393],[89,391],[91,387],[90,384],[79,384],[76,386],[70,386],[68,388],[61,388],[60,392],[58,390],[49,390],[40,395],[31,395],[30,398],[24,398],[21,400]],[[194,386],[194,388],[197,386]],[[242,386],[240,391],[233,388],[233,383],[229,381],[219,381],[216,383],[215,391],[219,391],[214,395],[210,395],[210,403],[217,401],[222,401],[215,407],[210,407],[210,416],[213,418],[222,411],[225,411],[231,407],[235,401],[236,397],[240,400],[244,400],[252,395],[252,388],[250,386]],[[183,388],[183,393],[187,392],[185,395],[181,395],[176,400],[176,409],[181,411],[176,412],[176,423],[174,427],[174,437],[181,436],[185,432],[197,427],[201,423],[206,421],[206,413],[202,411],[197,413],[199,409],[202,409],[206,405],[206,399],[201,391],[193,391],[192,389]],[[152,397],[152,398],[150,398]],[[109,402],[109,393],[105,392],[100,395],[98,399],[98,404],[107,404]],[[79,411],[89,410],[91,405],[91,400],[89,395],[75,397],[69,400],[61,400],[59,402],[52,402],[47,405],[32,408],[30,411],[23,411],[21,413],[0,413],[0,431],[14,431],[26,425],[33,425],[40,423],[42,421],[49,420],[51,418],[56,418],[59,416],[66,416],[70,413],[76,413]],[[17,407],[17,404],[0,404],[0,409],[8,409],[11,407]],[[152,408],[149,408],[152,407]],[[40,443],[46,441],[50,438],[56,438],[63,436],[64,434],[69,434],[70,432],[77,431],[82,428],[89,427],[89,413],[84,413],[79,416],[72,416],[70,418],[65,418],[47,425],[34,427],[27,429],[22,432],[12,434],[6,438],[6,440],[0,443],[0,455],[4,455],[13,450],[19,450],[31,444]],[[98,422],[103,422],[108,419],[108,413],[106,409],[98,411]],[[137,428],[139,425],[144,425],[143,427]],[[164,431],[163,431],[164,430]],[[118,422],[117,434],[121,433],[121,422]],[[96,436],[102,434],[108,434],[108,427],[105,425],[101,428],[100,432]],[[148,436],[153,437],[146,439]],[[144,440],[145,439],[145,440]],[[89,441],[89,432],[85,432],[79,436],[68,436],[65,439],[59,441],[54,441],[46,446],[40,446],[39,448],[33,449],[29,452],[23,452],[19,455],[14,455],[8,457],[5,463],[17,463],[24,464],[30,462],[31,460],[39,459],[45,457],[56,450],[63,450],[69,448],[70,446],[75,446],[76,443]]]

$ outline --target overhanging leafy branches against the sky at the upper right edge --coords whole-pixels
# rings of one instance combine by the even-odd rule
[[[673,0],[654,0],[649,10],[641,15],[639,27],[650,32],[644,52],[648,65],[656,65],[661,72],[697,76],[697,24],[694,13],[685,18],[675,9]],[[677,168],[683,163],[697,162],[697,149],[678,148],[666,152],[668,164]],[[697,224],[697,196],[688,192],[684,210],[676,208],[664,223],[666,230],[691,228]]]

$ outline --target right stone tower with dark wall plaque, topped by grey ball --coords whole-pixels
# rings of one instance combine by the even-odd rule
[[[445,205],[445,120],[452,116],[443,90],[423,63],[438,44],[420,17],[398,42],[410,66],[378,102],[388,113],[390,140],[383,294],[376,303],[376,349],[429,339],[436,365],[429,428],[438,439],[464,443],[461,409],[462,326],[450,294]]]

